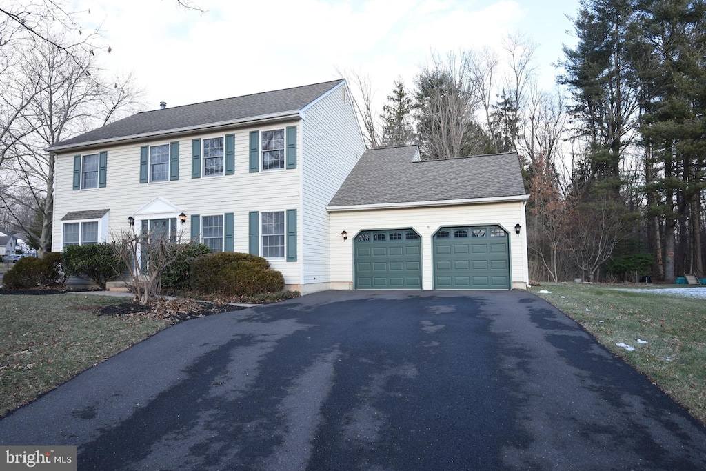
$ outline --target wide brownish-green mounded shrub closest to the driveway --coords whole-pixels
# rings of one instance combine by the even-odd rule
[[[282,291],[284,287],[282,273],[270,270],[270,263],[255,255],[218,252],[191,263],[191,288],[198,292],[253,296]]]

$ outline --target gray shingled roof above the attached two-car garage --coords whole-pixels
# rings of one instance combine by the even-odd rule
[[[517,154],[413,162],[417,146],[368,150],[329,207],[525,196]]]

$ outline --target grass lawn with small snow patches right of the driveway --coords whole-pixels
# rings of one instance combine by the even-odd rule
[[[673,286],[644,290],[543,283],[532,292],[580,323],[706,424],[706,301],[652,292],[664,287]]]

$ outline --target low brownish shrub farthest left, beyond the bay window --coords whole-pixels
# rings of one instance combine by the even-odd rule
[[[3,276],[6,290],[22,290],[36,287],[64,285],[66,276],[61,254],[50,252],[44,258],[24,257]]]

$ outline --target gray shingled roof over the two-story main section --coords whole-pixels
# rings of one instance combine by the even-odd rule
[[[76,148],[88,143],[120,141],[137,136],[155,136],[176,130],[203,129],[210,125],[242,122],[251,118],[258,119],[288,112],[294,114],[341,82],[342,79],[339,79],[302,87],[137,113],[80,136],[61,141],[49,150]]]

